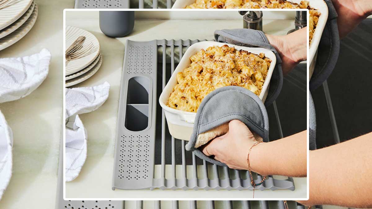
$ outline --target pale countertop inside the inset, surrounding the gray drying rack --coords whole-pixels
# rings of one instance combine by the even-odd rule
[[[66,24],[92,32],[100,41],[103,64],[90,79],[74,87],[94,86],[108,81],[110,96],[94,112],[80,115],[88,133],[88,154],[80,176],[66,183],[67,198],[249,198],[249,190],[119,190],[113,191],[112,169],[115,146],[116,118],[124,60],[125,40],[150,41],[154,39],[213,39],[216,29],[241,28],[242,20],[136,20],[134,31],[125,38],[109,38],[99,29],[99,21],[88,13],[80,12],[80,19],[69,18]],[[208,27],[206,27],[208,26]],[[266,33],[285,35],[294,28],[293,20],[264,20]],[[193,30],[191,30],[193,29]],[[296,190],[256,190],[255,197],[304,198],[306,178],[295,178]]]

